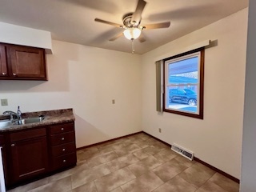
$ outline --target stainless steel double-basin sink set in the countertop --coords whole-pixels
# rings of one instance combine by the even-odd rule
[[[42,122],[44,117],[36,117],[36,118],[22,118],[19,120],[2,120],[0,121],[0,129],[6,128],[8,126],[18,126],[18,125],[26,125],[34,122]]]

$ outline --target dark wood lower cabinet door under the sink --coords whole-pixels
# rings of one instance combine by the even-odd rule
[[[46,137],[11,143],[14,182],[34,178],[48,170]]]

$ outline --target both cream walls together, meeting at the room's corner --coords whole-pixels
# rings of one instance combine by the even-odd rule
[[[0,98],[9,102],[0,113],[17,106],[22,112],[71,107],[78,147],[144,130],[240,178],[247,13],[239,11],[142,56],[53,41],[49,81],[0,81]],[[218,46],[206,50],[204,119],[158,114],[154,61],[206,39],[217,39]]]

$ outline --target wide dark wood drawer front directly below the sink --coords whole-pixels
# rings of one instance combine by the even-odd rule
[[[39,138],[42,136],[46,136],[46,128],[22,130],[20,132],[10,134],[10,142],[17,142],[30,138]]]

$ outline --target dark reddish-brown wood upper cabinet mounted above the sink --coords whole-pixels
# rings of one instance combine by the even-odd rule
[[[0,58],[0,79],[47,80],[45,50],[42,48],[0,44]]]

